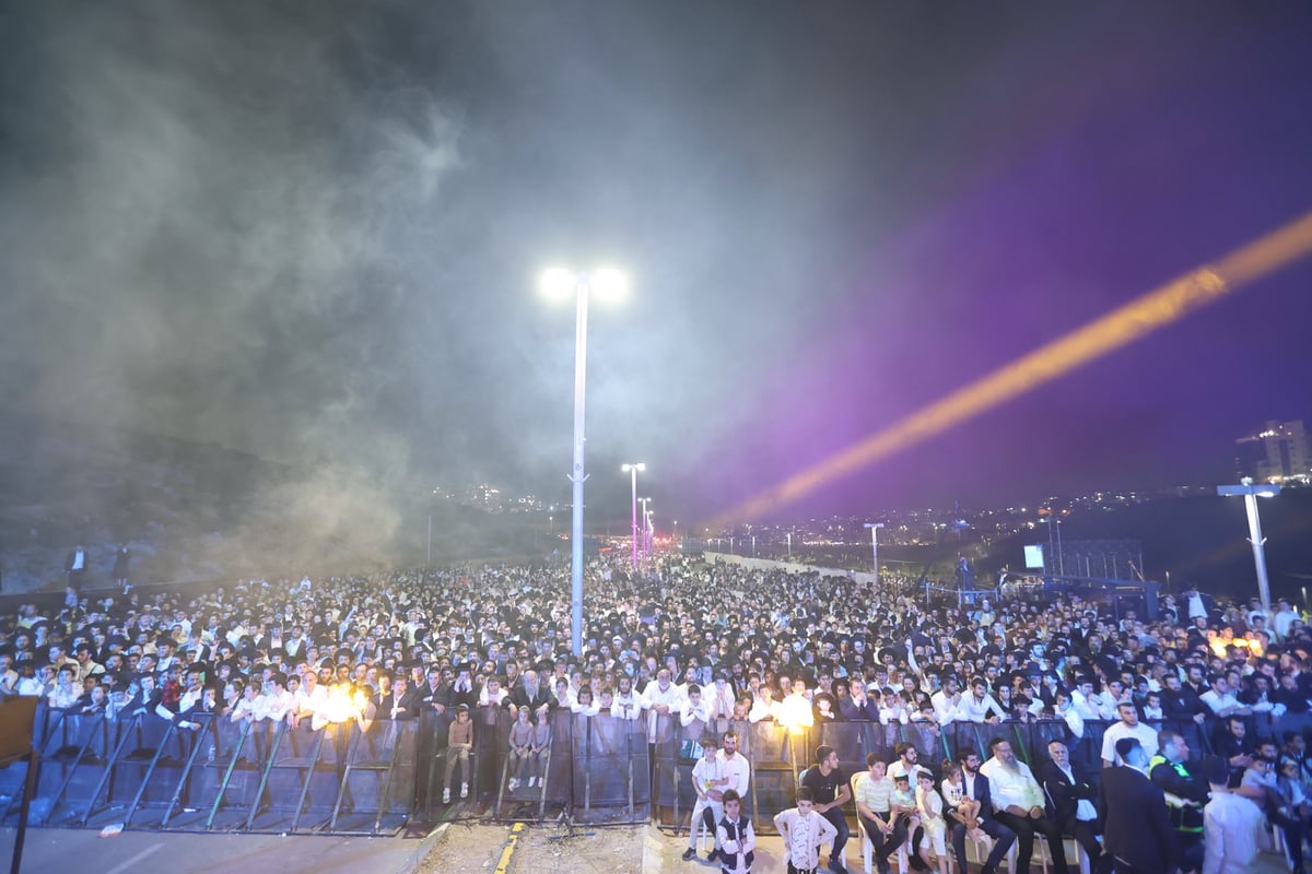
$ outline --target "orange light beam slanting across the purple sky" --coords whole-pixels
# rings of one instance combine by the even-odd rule
[[[1004,364],[705,524],[723,527],[758,519],[794,503],[834,480],[1165,328],[1308,253],[1312,253],[1312,212],[1236,249],[1214,265],[1198,267],[1023,358]]]

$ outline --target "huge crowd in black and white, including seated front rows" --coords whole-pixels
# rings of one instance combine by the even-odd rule
[[[1060,729],[1047,750],[1019,757],[1008,734],[987,729],[987,750],[963,747],[943,763],[918,763],[917,744],[900,743],[891,761],[871,753],[855,780],[821,747],[781,831],[800,833],[799,823],[820,815],[834,833],[807,833],[832,841],[834,870],[844,867],[849,798],[883,870],[905,844],[912,865],[933,860],[946,871],[951,848],[964,871],[967,841],[987,845],[987,874],[1013,843],[1025,870],[1035,835],[1072,836],[1107,870],[1165,870],[1115,861],[1143,846],[1117,849],[1117,816],[1107,818],[1099,793],[1124,795],[1114,806],[1123,812],[1138,810],[1144,786],[1072,768],[1071,751],[1090,743],[1107,769],[1138,769],[1162,795],[1170,822],[1162,865],[1225,870],[1210,867],[1215,853],[1229,857],[1204,835],[1206,811],[1223,794],[1281,831],[1298,870],[1312,820],[1302,734],[1312,630],[1283,599],[1266,616],[1256,604],[1218,604],[1186,588],[1148,618],[1143,604],[1065,595],[926,600],[912,579],[893,575],[871,586],[682,556],[632,573],[598,558],[575,655],[568,567],[550,563],[249,580],[203,592],[143,595],[123,584],[101,595],[71,590],[58,613],[29,603],[4,617],[0,696],[43,696],[66,713],[109,719],[150,713],[180,730],[198,727],[202,715],[312,729],[424,718],[433,746],[449,748],[446,799],[451,769],[464,772],[479,726],[489,725],[484,714],[502,710],[514,723],[516,786],[544,778],[548,717],[560,709],[632,719],[653,743],[666,739],[657,725],[676,722],[680,736],[712,743],[735,725],[769,721],[865,722],[901,730],[896,736],[907,729],[938,736],[954,723]],[[1283,726],[1292,729],[1271,734]],[[1208,788],[1219,765],[1186,738],[1223,763],[1221,790]],[[724,824],[727,789],[698,793],[695,814],[707,826]],[[744,797],[745,786],[731,789]],[[1145,816],[1138,827],[1157,822]],[[719,858],[724,870],[743,870],[745,854],[736,852],[732,867],[729,856]],[[1063,853],[1054,865],[1064,870]]]

